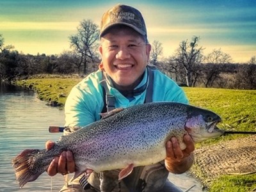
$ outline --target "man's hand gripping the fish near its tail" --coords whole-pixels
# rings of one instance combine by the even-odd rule
[[[47,150],[51,149],[54,146],[54,142],[47,141],[45,143],[45,148]],[[67,173],[73,173],[75,171],[75,162],[73,159],[72,152],[63,151],[60,157],[54,157],[51,164],[47,169],[47,173],[50,176],[54,176],[57,173],[66,175]]]

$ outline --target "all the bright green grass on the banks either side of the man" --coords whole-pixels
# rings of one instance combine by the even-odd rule
[[[16,81],[15,84],[33,88],[38,98],[55,100],[65,104],[71,88],[81,81],[81,78],[36,78]],[[256,131],[256,90],[227,90],[216,88],[184,88],[192,105],[206,108],[218,113],[222,122],[218,127],[232,131]],[[223,140],[234,140],[245,135],[221,136],[197,144],[212,145]],[[196,165],[195,165],[196,167]],[[201,177],[200,170],[196,171]],[[201,179],[204,179],[201,177]],[[222,175],[209,184],[210,191],[252,191],[256,188],[256,174]]]

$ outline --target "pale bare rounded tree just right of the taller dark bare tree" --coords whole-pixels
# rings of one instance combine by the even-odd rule
[[[231,56],[221,49],[214,49],[211,53],[204,57],[204,65],[202,65],[202,76],[205,87],[212,86],[216,79],[220,79],[223,65],[232,61]]]

